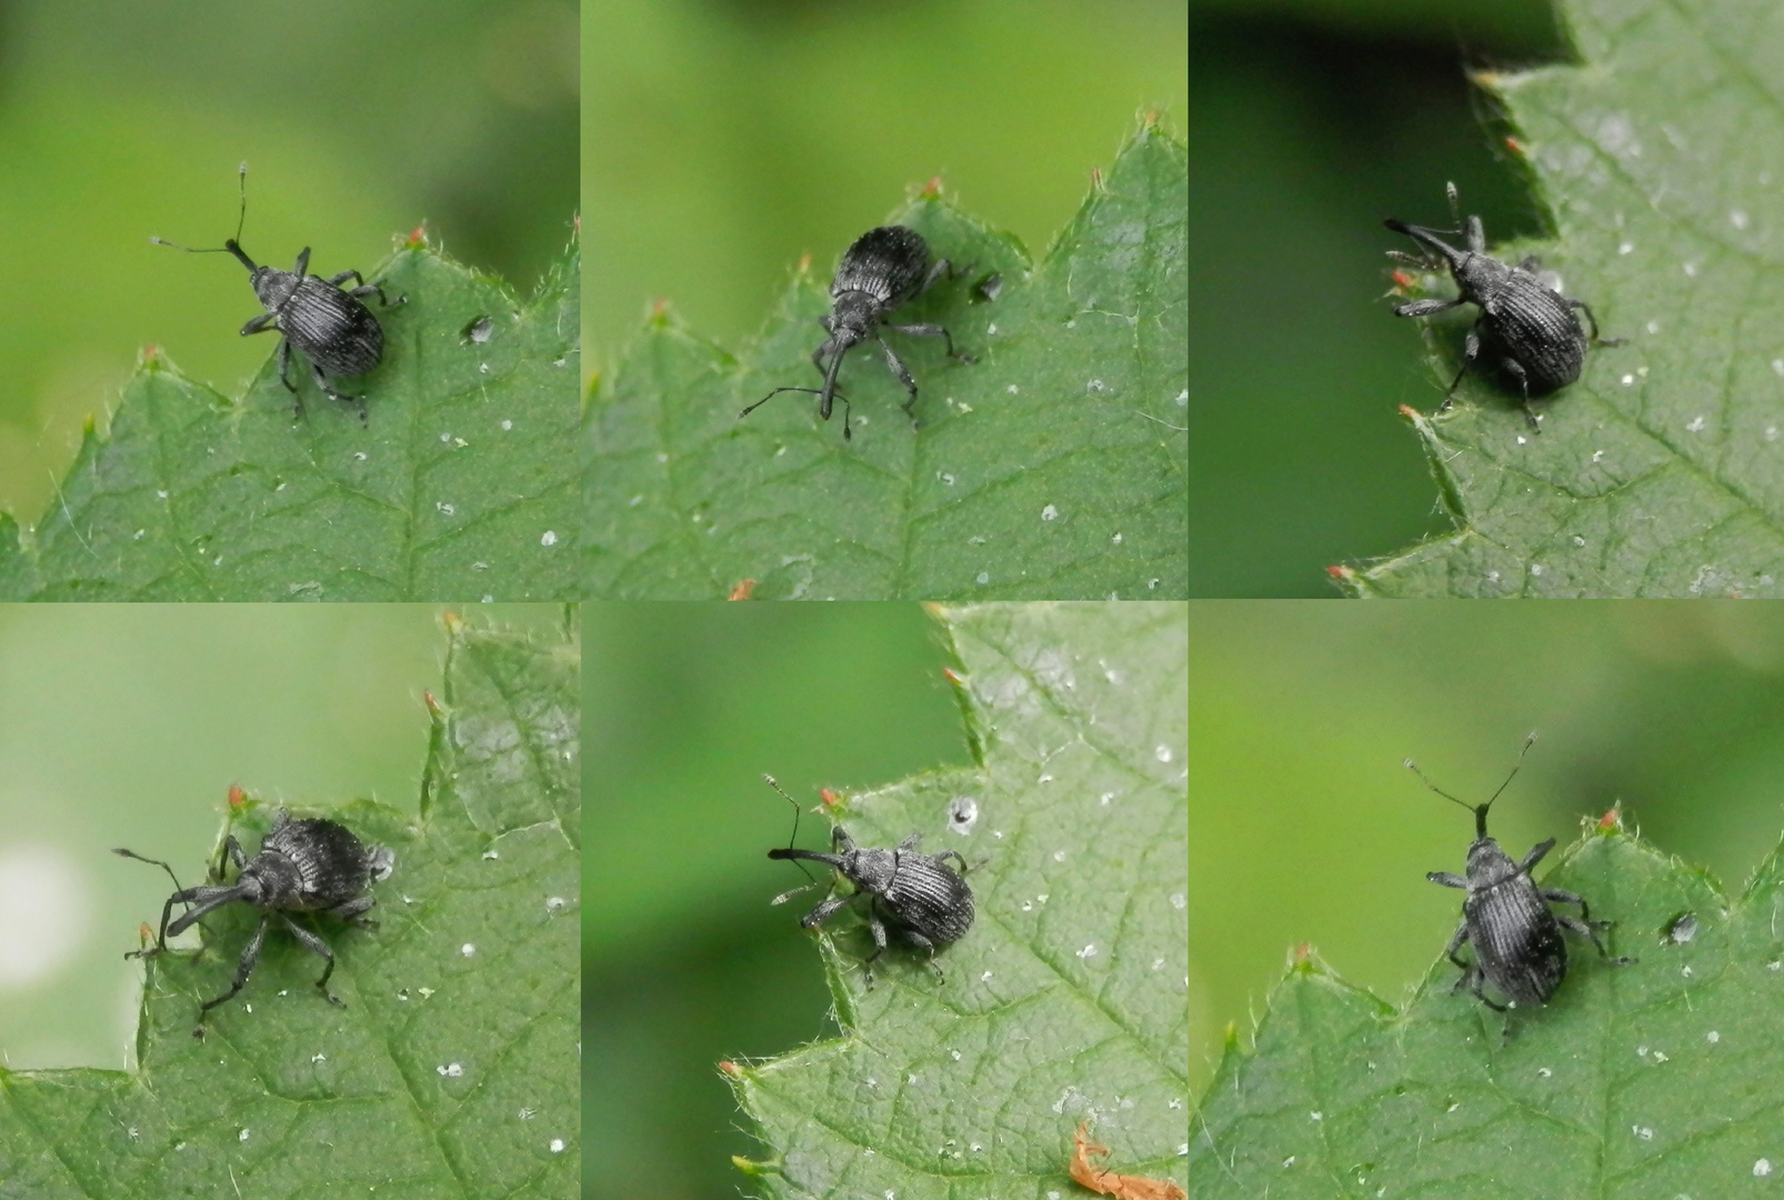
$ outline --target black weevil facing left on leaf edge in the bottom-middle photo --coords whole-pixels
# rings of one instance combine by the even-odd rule
[[[781,791],[781,786],[774,782],[772,775],[762,777],[769,788]],[[799,804],[787,796],[792,804],[794,838],[799,836]],[[855,884],[855,891],[838,896],[831,895],[815,909],[799,918],[799,925],[812,929],[814,925],[824,921],[826,918],[838,912],[844,905],[858,896],[867,896],[867,929],[874,938],[874,952],[867,955],[862,964],[867,979],[867,986],[874,986],[872,964],[887,948],[887,927],[904,936],[912,945],[929,952],[929,966],[935,968],[938,979],[946,980],[940,964],[935,961],[935,952],[938,946],[958,941],[972,929],[972,888],[967,886],[965,875],[967,861],[958,850],[944,850],[942,854],[922,854],[917,850],[922,834],[912,834],[904,841],[897,843],[894,850],[856,846],[855,839],[837,825],[831,829],[831,854],[817,854],[815,850],[796,850],[792,845],[785,848],[769,850],[771,859],[810,859],[814,862],[822,862],[835,868],[837,875],[847,879]],[[960,862],[960,871],[947,866],[947,857],[953,855]],[[805,870],[803,866],[799,870]],[[810,888],[815,888],[817,880],[805,884],[803,888],[794,888],[774,896],[772,904],[785,904],[790,896],[799,895]]]

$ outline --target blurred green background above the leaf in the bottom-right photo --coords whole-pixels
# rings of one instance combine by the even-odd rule
[[[1739,893],[1784,832],[1784,605],[1202,602],[1190,679],[1192,1095],[1297,943],[1393,1004],[1443,952],[1459,896],[1425,871],[1474,823],[1402,759],[1479,804],[1536,730],[1490,827],[1515,855],[1622,802]]]

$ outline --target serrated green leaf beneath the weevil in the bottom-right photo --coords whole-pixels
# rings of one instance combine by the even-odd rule
[[[1586,896],[1639,961],[1570,938],[1554,1000],[1509,1021],[1450,995],[1443,957],[1395,1011],[1302,955],[1256,1052],[1229,1039],[1190,1195],[1709,1200],[1784,1175],[1780,864],[1729,904],[1702,870],[1588,836],[1543,884]],[[1695,936],[1668,939],[1684,912]]]

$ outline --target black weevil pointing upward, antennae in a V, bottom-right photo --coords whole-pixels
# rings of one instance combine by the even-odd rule
[[[1634,962],[1627,957],[1611,957],[1598,941],[1598,930],[1609,929],[1611,921],[1595,921],[1582,896],[1561,888],[1538,888],[1531,871],[1543,855],[1554,850],[1554,838],[1531,846],[1522,861],[1513,861],[1499,843],[1486,832],[1486,811],[1493,807],[1500,793],[1518,775],[1524,755],[1531,752],[1536,734],[1524,741],[1511,775],[1499,786],[1491,800],[1470,805],[1449,795],[1429,779],[1418,766],[1406,759],[1406,768],[1431,791],[1452,804],[1474,812],[1474,845],[1468,846],[1468,873],[1452,875],[1449,871],[1429,871],[1425,879],[1443,888],[1461,888],[1468,896],[1461,904],[1461,925],[1450,938],[1445,955],[1461,968],[1461,979],[1450,988],[1450,995],[1468,988],[1490,1009],[1504,1012],[1518,1004],[1547,1004],[1566,977],[1566,941],[1561,930],[1588,938],[1598,950],[1598,957],[1613,964]],[[1550,904],[1577,904],[1579,916],[1556,912]],[[1474,946],[1474,961],[1459,957],[1463,943]],[[1486,995],[1484,986],[1506,996],[1507,1004],[1499,1004]]]

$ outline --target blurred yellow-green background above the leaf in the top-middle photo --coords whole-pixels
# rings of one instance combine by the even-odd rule
[[[1181,0],[596,0],[591,370],[655,298],[737,348],[933,175],[1038,257],[1142,111],[1181,138],[1183,36]]]

